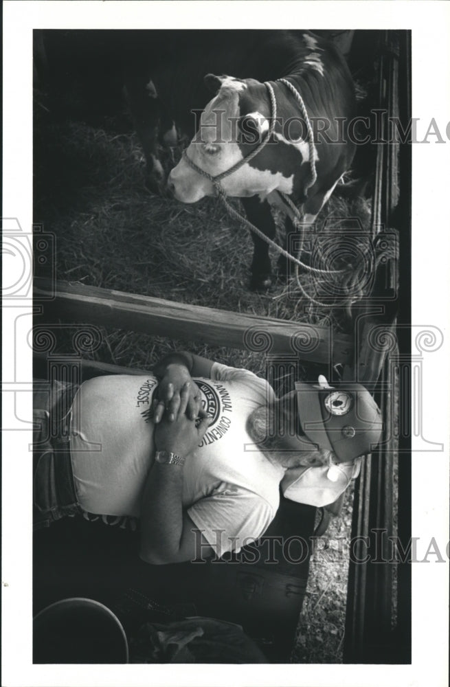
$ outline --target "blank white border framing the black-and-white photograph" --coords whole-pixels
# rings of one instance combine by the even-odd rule
[[[3,3],[3,217],[32,227],[32,30],[34,28],[286,28],[412,30],[412,116],[446,131],[450,120],[450,6],[440,1],[12,1]],[[425,126],[425,125],[424,125]],[[427,131],[425,126],[424,134]],[[412,453],[412,535],[440,550],[449,521],[448,196],[445,144],[412,146],[412,323],[438,326],[444,345],[425,354],[424,431],[444,453]],[[445,134],[444,134],[445,135]],[[5,225],[4,225],[5,226]],[[3,289],[10,256],[3,256]],[[11,403],[31,418],[32,351],[16,323],[32,302],[3,308],[3,417]],[[17,340],[16,340],[17,339]],[[414,350],[414,347],[413,347]],[[13,363],[15,361],[15,363]],[[21,390],[22,394],[16,393]],[[11,400],[13,398],[13,400]],[[9,406],[9,408],[8,408]],[[14,415],[9,413],[9,415]],[[8,415],[8,416],[9,416]],[[4,427],[5,425],[3,425]],[[10,427],[10,425],[6,425]],[[20,428],[23,430],[23,425]],[[42,666],[32,664],[32,492],[23,469],[30,431],[3,431],[3,684],[8,687],[158,685],[386,687],[447,684],[448,548],[445,563],[412,565],[412,665]],[[419,444],[416,444],[419,445]],[[426,547],[425,547],[426,550]],[[214,671],[214,672],[213,672]]]

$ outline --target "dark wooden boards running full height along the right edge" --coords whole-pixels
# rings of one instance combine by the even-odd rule
[[[379,106],[387,111],[388,116],[401,117],[401,122],[405,126],[410,117],[409,98],[407,93],[403,93],[400,98],[399,90],[409,77],[408,32],[385,32],[380,52]],[[381,133],[387,142],[377,144],[376,185],[372,210],[374,234],[378,234],[378,240],[382,240],[381,227],[390,227],[395,222],[398,229],[401,229],[400,249],[409,256],[408,179],[411,168],[403,150],[407,144],[401,149],[398,142],[390,141],[391,132],[386,120]],[[355,539],[354,556],[350,559],[348,575],[344,642],[346,663],[401,663],[407,662],[409,655],[408,651],[405,651],[407,638],[403,644],[400,635],[392,630],[394,565],[390,561],[392,551],[388,539],[393,534],[393,511],[396,508],[393,498],[393,472],[398,447],[393,427],[399,401],[397,380],[393,374],[394,365],[391,364],[390,357],[396,354],[398,346],[395,328],[398,304],[401,303],[402,308],[405,306],[408,312],[410,299],[407,278],[410,265],[407,260],[406,264],[405,260],[401,262],[406,272],[401,280],[396,278],[396,251],[393,251],[384,264],[379,263],[371,302],[355,322],[358,342],[355,347],[355,360],[352,367],[346,370],[347,379],[357,379],[368,385],[371,390],[374,389],[374,397],[381,407],[384,422],[379,447],[363,461],[355,489],[352,539],[359,539]],[[403,286],[400,287],[399,284]],[[405,399],[400,401],[405,402]],[[399,493],[400,491],[399,486]],[[399,508],[398,514],[400,513]],[[405,576],[403,581],[407,582]],[[400,582],[399,574],[398,585]],[[398,593],[404,594],[404,589],[400,590],[399,587]],[[407,628],[407,623],[405,624],[400,616],[397,622],[399,627],[401,625],[403,629]]]

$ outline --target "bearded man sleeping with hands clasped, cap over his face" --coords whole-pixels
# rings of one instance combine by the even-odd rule
[[[36,523],[138,517],[140,556],[153,564],[194,559],[199,542],[203,557],[240,550],[267,530],[289,475],[318,468],[334,482],[381,435],[361,385],[319,377],[276,398],[253,372],[187,352],[152,374],[90,379],[67,398],[51,445],[36,445]]]

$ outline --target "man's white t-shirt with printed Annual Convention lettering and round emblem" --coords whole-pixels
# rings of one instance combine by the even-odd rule
[[[185,462],[183,507],[221,556],[258,539],[278,510],[284,470],[265,458],[246,429],[251,412],[275,395],[253,372],[219,363],[211,379],[195,381],[213,421]],[[139,517],[155,455],[149,411],[156,387],[151,375],[117,375],[96,377],[78,390],[71,460],[84,510]]]

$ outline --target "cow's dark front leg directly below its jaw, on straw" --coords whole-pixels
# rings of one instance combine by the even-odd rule
[[[249,221],[268,238],[275,238],[275,221],[269,203],[260,201],[258,196],[251,196],[243,198],[243,205]],[[251,238],[254,242],[254,254],[251,261],[250,288],[254,291],[265,291],[272,284],[269,245],[254,232],[251,232]]]

